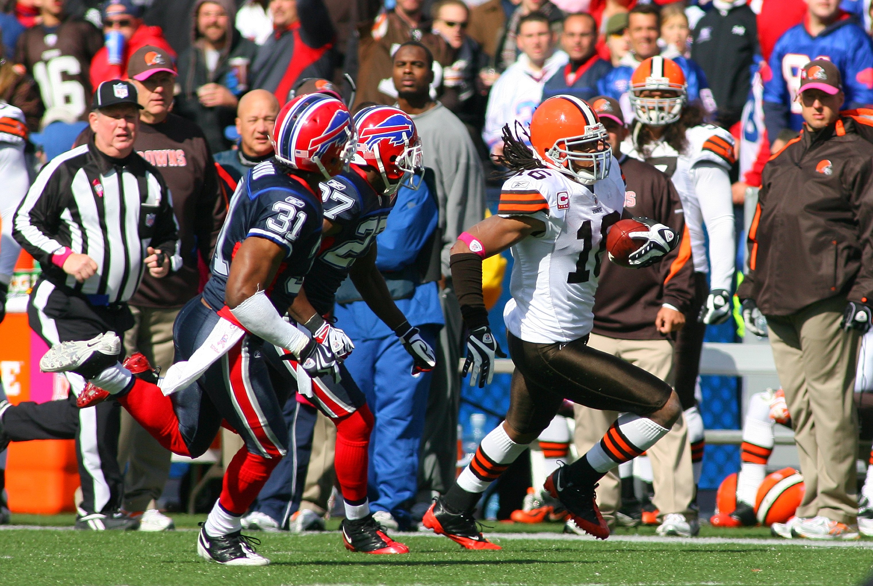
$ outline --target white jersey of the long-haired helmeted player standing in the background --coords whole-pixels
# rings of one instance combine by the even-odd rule
[[[709,161],[730,171],[733,161],[733,137],[724,128],[702,124],[689,128],[685,133],[688,146],[684,153],[679,153],[675,148],[663,140],[650,142],[643,148],[643,153],[636,149],[632,136],[622,143],[622,152],[629,157],[644,160],[653,165],[659,171],[667,174],[673,181],[682,200],[682,208],[685,215],[685,226],[691,236],[691,257],[694,260],[694,269],[698,273],[709,272],[709,263],[706,261],[706,246],[704,237],[704,214],[701,206],[709,203],[706,198],[727,197],[731,201],[730,191],[727,194],[698,194],[694,187],[694,177],[691,169],[700,161]],[[732,249],[733,243],[719,242],[719,247],[724,246]]]

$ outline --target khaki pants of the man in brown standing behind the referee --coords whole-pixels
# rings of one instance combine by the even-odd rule
[[[124,335],[127,356],[142,352],[153,366],[162,372],[173,365],[173,322],[178,309],[155,309],[130,306],[134,327]],[[127,511],[155,508],[167,482],[169,451],[158,443],[127,410],[121,410],[121,432],[118,441],[118,461],[124,476],[124,502]]]

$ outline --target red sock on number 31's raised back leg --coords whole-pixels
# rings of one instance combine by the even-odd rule
[[[173,402],[164,396],[158,385],[134,377],[133,388],[118,397],[118,402],[158,443],[172,453],[190,456],[185,439],[179,432],[179,419],[173,411]]]

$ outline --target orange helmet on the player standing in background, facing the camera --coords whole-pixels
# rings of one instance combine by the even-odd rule
[[[630,105],[634,115],[643,124],[666,126],[676,122],[682,115],[688,84],[682,67],[675,61],[660,55],[650,57],[637,66],[630,76]],[[675,92],[675,96],[643,98],[647,91]]]

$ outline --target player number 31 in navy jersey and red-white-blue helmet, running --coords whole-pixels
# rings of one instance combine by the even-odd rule
[[[243,436],[197,538],[198,555],[228,565],[270,562],[253,548],[257,540],[240,533],[241,515],[289,444],[282,417],[288,385],[274,384],[265,354],[284,348],[318,378],[336,376],[343,350],[341,332],[331,326],[312,338],[282,315],[319,251],[319,183],[339,174],[354,153],[352,116],[339,99],[303,95],[278,113],[272,140],[275,158],[253,167],[230,201],[209,283],[176,317],[176,358],[185,363],[168,371],[163,392],[144,357],[134,355],[124,367],[115,360],[120,339],[112,332],[58,344],[40,362],[44,371],[75,371],[86,379],[113,378],[105,374],[113,372],[118,384],[103,388],[174,453],[199,456],[222,425]],[[174,370],[181,373],[179,388],[165,396]]]

